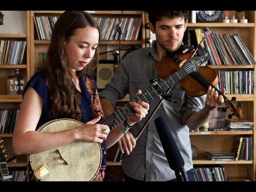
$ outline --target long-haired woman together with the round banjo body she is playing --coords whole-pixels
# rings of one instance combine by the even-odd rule
[[[89,13],[64,12],[52,30],[45,69],[31,77],[26,84],[15,122],[12,145],[15,155],[49,155],[45,157],[46,162],[38,164],[36,163],[41,161],[41,156],[31,156],[31,167],[34,169],[32,173],[36,180],[86,180],[83,179],[86,173],[79,175],[79,178],[61,177],[68,167],[82,171],[81,166],[84,166],[84,169],[90,170],[90,164],[94,161],[90,156],[94,153],[89,153],[86,146],[100,143],[102,157],[99,157],[101,159],[98,162],[101,163],[97,165],[97,172],[92,173],[92,178],[89,177],[88,180],[103,181],[107,148],[113,146],[130,126],[148,113],[148,103],[130,102],[134,112],[122,121],[124,123],[116,124],[111,131],[108,125],[97,124],[105,117],[97,85],[87,74],[87,70],[90,65],[97,65],[99,61],[99,38],[99,27]],[[138,90],[138,94],[140,93]],[[70,122],[84,124],[78,123],[77,126],[75,123],[73,126],[69,121],[61,123],[69,119]],[[54,124],[56,122],[58,124]],[[64,129],[68,124],[76,129]],[[42,127],[47,127],[46,131]],[[78,156],[81,150],[82,154],[88,152],[85,155],[89,158],[87,165]],[[71,158],[76,161],[72,162]],[[37,166],[38,169],[35,169]],[[62,167],[63,170],[60,170]]]

